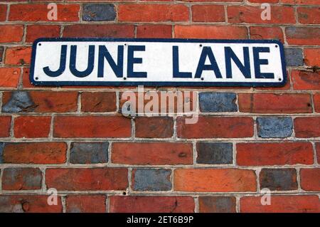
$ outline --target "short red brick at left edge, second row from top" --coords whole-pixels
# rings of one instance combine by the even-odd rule
[[[22,41],[22,25],[1,25],[0,43],[18,43]]]

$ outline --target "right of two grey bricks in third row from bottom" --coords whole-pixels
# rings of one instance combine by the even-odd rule
[[[232,164],[233,144],[220,142],[197,143],[198,164]]]

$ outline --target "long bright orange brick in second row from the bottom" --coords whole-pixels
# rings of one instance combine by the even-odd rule
[[[176,169],[174,191],[257,191],[256,175],[248,169]]]

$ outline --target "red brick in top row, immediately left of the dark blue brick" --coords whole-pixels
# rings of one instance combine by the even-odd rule
[[[57,4],[58,17],[56,21],[79,21],[80,5]],[[10,6],[9,21],[50,21],[48,19],[48,4],[13,4]]]

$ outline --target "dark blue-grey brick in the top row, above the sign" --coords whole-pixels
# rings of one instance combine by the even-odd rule
[[[113,4],[84,4],[83,21],[114,21],[116,11]]]

